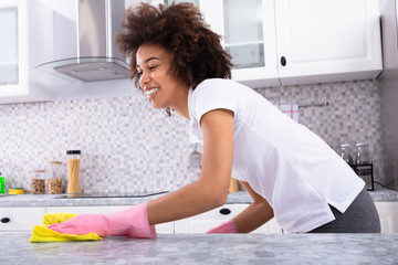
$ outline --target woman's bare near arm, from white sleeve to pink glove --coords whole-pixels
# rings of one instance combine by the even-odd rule
[[[227,201],[233,159],[233,113],[214,109],[200,120],[203,155],[197,181],[148,202],[149,224],[192,216]]]

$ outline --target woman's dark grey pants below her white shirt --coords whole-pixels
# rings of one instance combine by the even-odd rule
[[[380,220],[366,189],[364,189],[348,209],[341,213],[331,205],[336,220],[308,233],[380,233]]]

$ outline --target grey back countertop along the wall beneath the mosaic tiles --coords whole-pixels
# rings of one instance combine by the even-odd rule
[[[398,201],[398,191],[378,187],[369,191],[374,201]],[[66,199],[65,194],[21,194],[0,197],[0,206],[95,206],[95,205],[134,205],[154,200],[164,194],[144,198],[74,198]],[[61,198],[61,199],[57,199]],[[245,191],[231,192],[227,203],[251,203],[252,199]]]

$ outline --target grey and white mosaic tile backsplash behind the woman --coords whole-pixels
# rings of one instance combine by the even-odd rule
[[[383,180],[380,107],[377,81],[256,89],[274,104],[298,107],[300,123],[339,152],[341,144],[368,144],[375,179]],[[167,117],[143,97],[59,100],[0,105],[0,172],[7,187],[30,192],[32,170],[63,163],[66,150],[82,150],[81,186],[91,193],[171,191],[199,176],[189,166],[193,146],[188,120]]]

